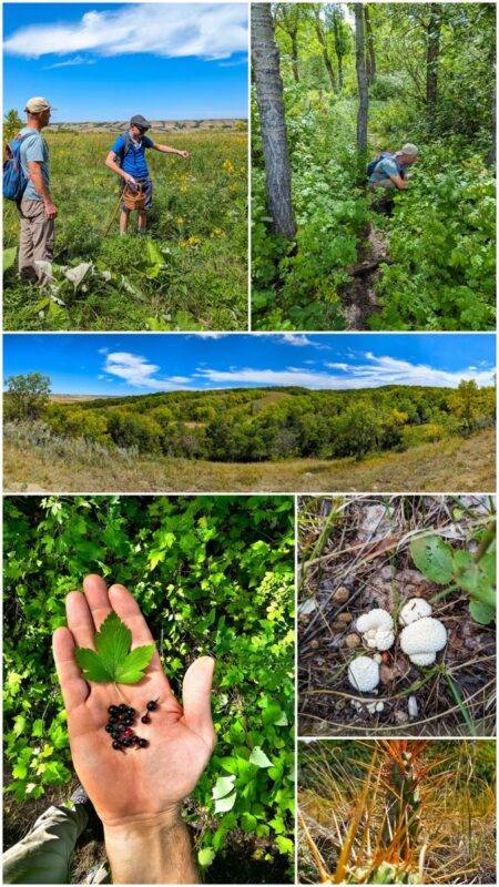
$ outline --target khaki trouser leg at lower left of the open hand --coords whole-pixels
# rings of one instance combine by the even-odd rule
[[[86,826],[82,804],[49,807],[18,844],[3,854],[4,884],[70,884],[74,845]]]

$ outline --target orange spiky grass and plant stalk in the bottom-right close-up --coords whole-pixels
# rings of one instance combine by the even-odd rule
[[[493,742],[315,741],[298,762],[302,883],[493,883]]]

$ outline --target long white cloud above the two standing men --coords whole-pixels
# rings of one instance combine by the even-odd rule
[[[53,53],[227,59],[247,50],[245,3],[141,3],[92,10],[78,22],[31,24],[4,42],[6,53],[39,59]]]

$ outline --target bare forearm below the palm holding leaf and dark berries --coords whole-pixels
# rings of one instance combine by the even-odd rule
[[[198,884],[187,828],[169,810],[118,825],[104,824],[113,884]]]

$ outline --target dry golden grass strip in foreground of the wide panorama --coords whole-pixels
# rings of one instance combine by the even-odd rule
[[[7,425],[6,492],[483,492],[496,488],[496,434],[450,437],[406,452],[278,462],[210,462],[132,451],[110,453],[80,440],[33,442],[22,426]]]

